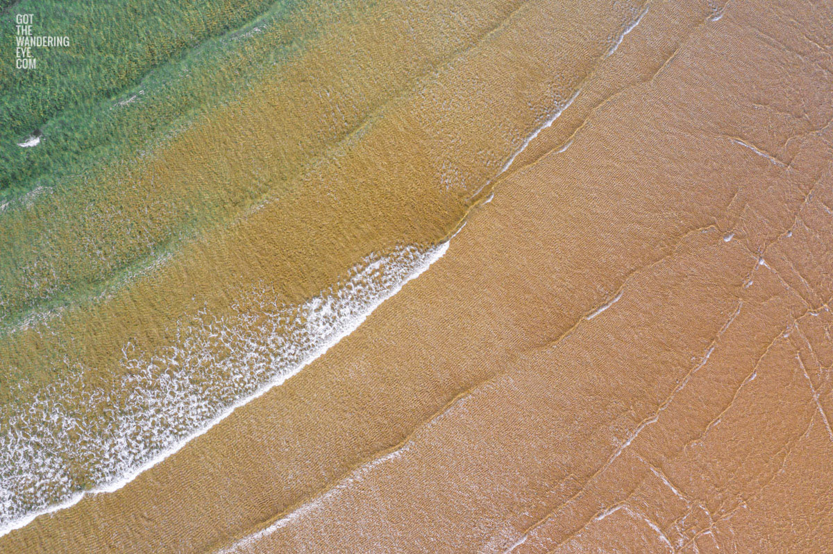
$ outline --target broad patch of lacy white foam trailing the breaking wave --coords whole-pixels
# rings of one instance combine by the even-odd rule
[[[252,289],[230,315],[181,319],[172,344],[153,352],[125,344],[115,387],[76,365],[72,378],[0,407],[0,536],[131,482],[324,354],[446,249],[369,256],[297,306]]]

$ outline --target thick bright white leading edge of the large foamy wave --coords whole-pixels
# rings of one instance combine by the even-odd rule
[[[375,301],[367,306],[363,312],[355,314],[351,319],[343,322],[341,324],[341,330],[337,334],[333,335],[330,339],[325,341],[324,343],[320,344],[316,349],[312,349],[307,356],[302,359],[302,361],[297,364],[292,370],[284,373],[280,373],[277,377],[273,378],[272,380],[264,383],[262,387],[258,388],[254,393],[239,398],[236,402],[229,405],[227,408],[223,409],[216,417],[204,423],[201,428],[197,428],[194,432],[187,434],[184,438],[177,440],[176,442],[172,443],[167,448],[162,449],[159,453],[156,453],[151,458],[148,458],[147,461],[143,462],[142,464],[138,465],[137,467],[132,468],[131,470],[122,474],[121,477],[114,479],[111,482],[104,483],[99,485],[98,487],[94,487],[86,492],[78,492],[71,497],[68,497],[63,502],[59,502],[49,507],[44,507],[42,509],[28,512],[25,516],[19,517],[17,519],[13,519],[10,522],[6,522],[2,527],[0,527],[0,537],[6,535],[9,532],[12,532],[16,529],[20,529],[21,527],[25,527],[28,523],[32,522],[36,517],[51,514],[54,512],[58,512],[68,507],[72,507],[78,502],[82,500],[87,494],[100,494],[102,492],[114,492],[118,489],[127,485],[127,483],[132,482],[139,474],[145,472],[147,469],[157,465],[157,463],[162,462],[169,456],[174,453],[177,453],[181,450],[187,443],[192,441],[193,439],[202,436],[203,434],[207,433],[207,431],[213,428],[217,423],[222,422],[223,419],[227,418],[234,412],[235,409],[241,407],[244,404],[247,404],[254,400],[255,398],[261,397],[263,394],[267,393],[273,387],[281,385],[284,383],[287,378],[292,377],[303,368],[305,368],[308,364],[311,364],[314,360],[321,357],[323,354],[327,352],[334,344],[340,342],[344,337],[351,334],[354,330],[358,329],[358,327],[364,323],[365,319],[372,314],[372,312],[379,307],[385,300],[391,298],[394,294],[397,294],[402,287],[410,280],[416,279],[419,275],[425,272],[436,260],[439,260],[443,255],[445,255],[446,250],[448,250],[448,241],[442,243],[434,247],[431,250],[426,252],[426,256],[418,263],[416,266],[413,267],[410,273],[405,275],[397,284],[392,286],[390,289],[387,289],[382,295],[380,295]],[[380,262],[375,262],[379,264]],[[392,453],[394,454],[394,453]],[[392,454],[388,455],[387,458],[392,456]],[[383,458],[383,459],[387,459]],[[380,460],[381,462],[382,460]]]

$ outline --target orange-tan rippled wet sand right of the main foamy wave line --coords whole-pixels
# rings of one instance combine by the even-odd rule
[[[359,329],[0,550],[833,552],[831,12],[651,3]]]

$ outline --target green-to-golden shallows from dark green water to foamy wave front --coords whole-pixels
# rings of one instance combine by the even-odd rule
[[[347,12],[142,151],[79,158],[74,181],[0,212],[5,531],[130,481],[355,329],[644,8]],[[232,38],[245,53],[268,32]],[[160,90],[102,109],[142,114]]]

